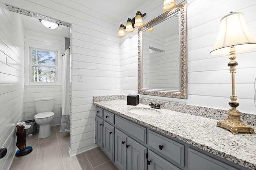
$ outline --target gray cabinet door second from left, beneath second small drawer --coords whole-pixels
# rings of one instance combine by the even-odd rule
[[[114,127],[107,122],[103,125],[103,151],[110,160],[114,160]]]

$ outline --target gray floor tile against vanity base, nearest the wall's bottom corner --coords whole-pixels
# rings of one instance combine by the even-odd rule
[[[87,152],[85,152],[85,154],[88,160],[91,162],[92,167],[94,168],[109,160],[108,157],[104,154],[104,152],[99,147],[94,148],[92,150],[88,150]]]

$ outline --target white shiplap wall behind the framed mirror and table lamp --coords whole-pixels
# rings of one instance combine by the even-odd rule
[[[151,2],[151,5],[148,3]],[[162,13],[162,1],[151,0],[138,6],[147,15],[144,21]],[[256,35],[256,1],[248,0],[187,0],[187,35],[188,35],[188,99],[165,98],[159,96],[140,95],[154,98],[205,106],[218,109],[229,109],[231,95],[231,74],[227,66],[228,56],[213,56],[210,51],[215,43],[220,19],[230,11],[244,13],[254,36]],[[129,16],[134,15],[131,13]],[[128,17],[128,16],[127,16]],[[125,21],[125,17],[122,21]],[[137,31],[135,31],[137,32]],[[130,34],[130,33],[129,33]],[[127,34],[121,38],[121,94],[130,94],[137,90],[137,35]],[[254,106],[254,79],[256,74],[256,52],[237,54],[236,95],[240,106],[238,110],[256,114]],[[126,62],[130,59],[131,62]],[[123,69],[130,66],[129,70]]]

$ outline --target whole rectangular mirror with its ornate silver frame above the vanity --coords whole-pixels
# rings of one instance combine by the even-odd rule
[[[138,94],[187,98],[186,2],[138,28]]]

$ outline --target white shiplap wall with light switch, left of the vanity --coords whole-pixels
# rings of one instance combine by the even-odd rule
[[[8,0],[12,6],[72,23],[70,154],[94,144],[93,96],[120,94],[119,21],[70,0]],[[78,82],[78,74],[83,82]]]

